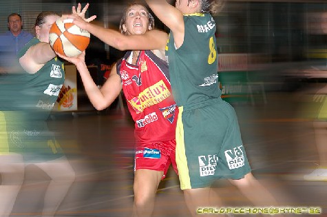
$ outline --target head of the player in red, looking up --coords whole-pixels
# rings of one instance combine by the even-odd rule
[[[126,12],[126,23],[123,26],[127,34],[145,34],[149,29],[149,17],[143,6],[131,6]]]

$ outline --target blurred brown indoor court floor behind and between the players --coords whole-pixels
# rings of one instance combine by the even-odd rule
[[[327,182],[302,178],[318,161],[312,123],[302,116],[304,103],[288,92],[267,93],[266,97],[266,103],[233,105],[254,176],[280,207],[318,207],[326,210],[319,216],[327,216]],[[134,125],[128,112],[114,107],[102,112],[56,113],[49,125],[76,171],[56,216],[131,216]],[[41,216],[48,180],[39,169],[28,166],[12,216]],[[222,201],[217,207],[255,207],[226,180],[218,180],[214,190]],[[153,216],[190,216],[172,169],[160,183]]]

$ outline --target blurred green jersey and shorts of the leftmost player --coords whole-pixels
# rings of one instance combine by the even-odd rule
[[[19,58],[39,43],[32,39]],[[8,74],[1,79],[0,153],[15,152],[25,162],[50,161],[63,156],[46,120],[59,96],[65,72],[63,62],[54,58],[36,73]]]

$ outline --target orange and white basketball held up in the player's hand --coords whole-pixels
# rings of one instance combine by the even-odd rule
[[[78,56],[89,45],[89,32],[74,25],[72,19],[58,19],[50,28],[49,42],[63,56]]]

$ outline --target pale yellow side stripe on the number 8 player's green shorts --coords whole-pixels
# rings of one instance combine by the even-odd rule
[[[182,123],[183,107],[178,107],[179,113],[176,125],[176,163],[178,176],[180,176],[180,189],[191,189],[189,178],[189,167],[187,167],[187,157],[185,155],[184,127]]]

